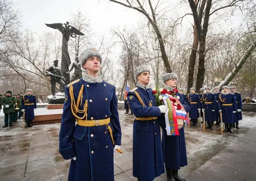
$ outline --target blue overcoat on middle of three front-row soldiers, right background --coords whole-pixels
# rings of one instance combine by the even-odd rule
[[[204,108],[204,117],[206,122],[216,121],[216,97],[215,94],[203,94],[202,96],[203,104],[202,108]],[[214,110],[214,111],[213,111]],[[218,111],[218,110],[217,110]]]

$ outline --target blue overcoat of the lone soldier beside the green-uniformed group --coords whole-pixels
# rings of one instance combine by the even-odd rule
[[[24,95],[21,101],[21,108],[25,109],[25,120],[33,120],[35,118],[34,109],[36,109],[36,96]]]

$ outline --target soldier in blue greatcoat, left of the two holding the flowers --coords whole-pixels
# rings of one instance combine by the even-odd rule
[[[135,115],[133,123],[133,176],[138,181],[153,181],[164,173],[159,117],[164,105],[157,107],[149,88],[150,70],[140,66],[133,71],[136,87],[128,92],[128,104]]]

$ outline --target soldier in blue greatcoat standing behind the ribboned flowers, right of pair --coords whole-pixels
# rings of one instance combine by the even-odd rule
[[[163,82],[168,86],[171,95],[179,96],[179,101],[188,113],[190,111],[190,106],[187,105],[183,96],[178,92],[176,88],[177,84],[177,74],[166,73],[163,76]],[[161,117],[160,125],[163,128],[162,134],[162,145],[164,152],[164,163],[166,169],[166,179],[167,181],[185,181],[178,174],[180,167],[187,165],[187,150],[185,142],[185,132],[184,127],[179,127],[179,136],[168,136],[166,132],[166,124],[164,116]]]

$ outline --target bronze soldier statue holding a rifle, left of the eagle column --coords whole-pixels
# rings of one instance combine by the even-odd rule
[[[55,87],[56,82],[58,82],[60,85],[62,85],[62,88],[66,86],[66,83],[62,80],[64,77],[62,76],[62,72],[58,66],[59,60],[53,61],[54,64],[48,67],[45,71],[47,76],[51,76],[51,91],[52,91],[52,97],[55,98]]]

